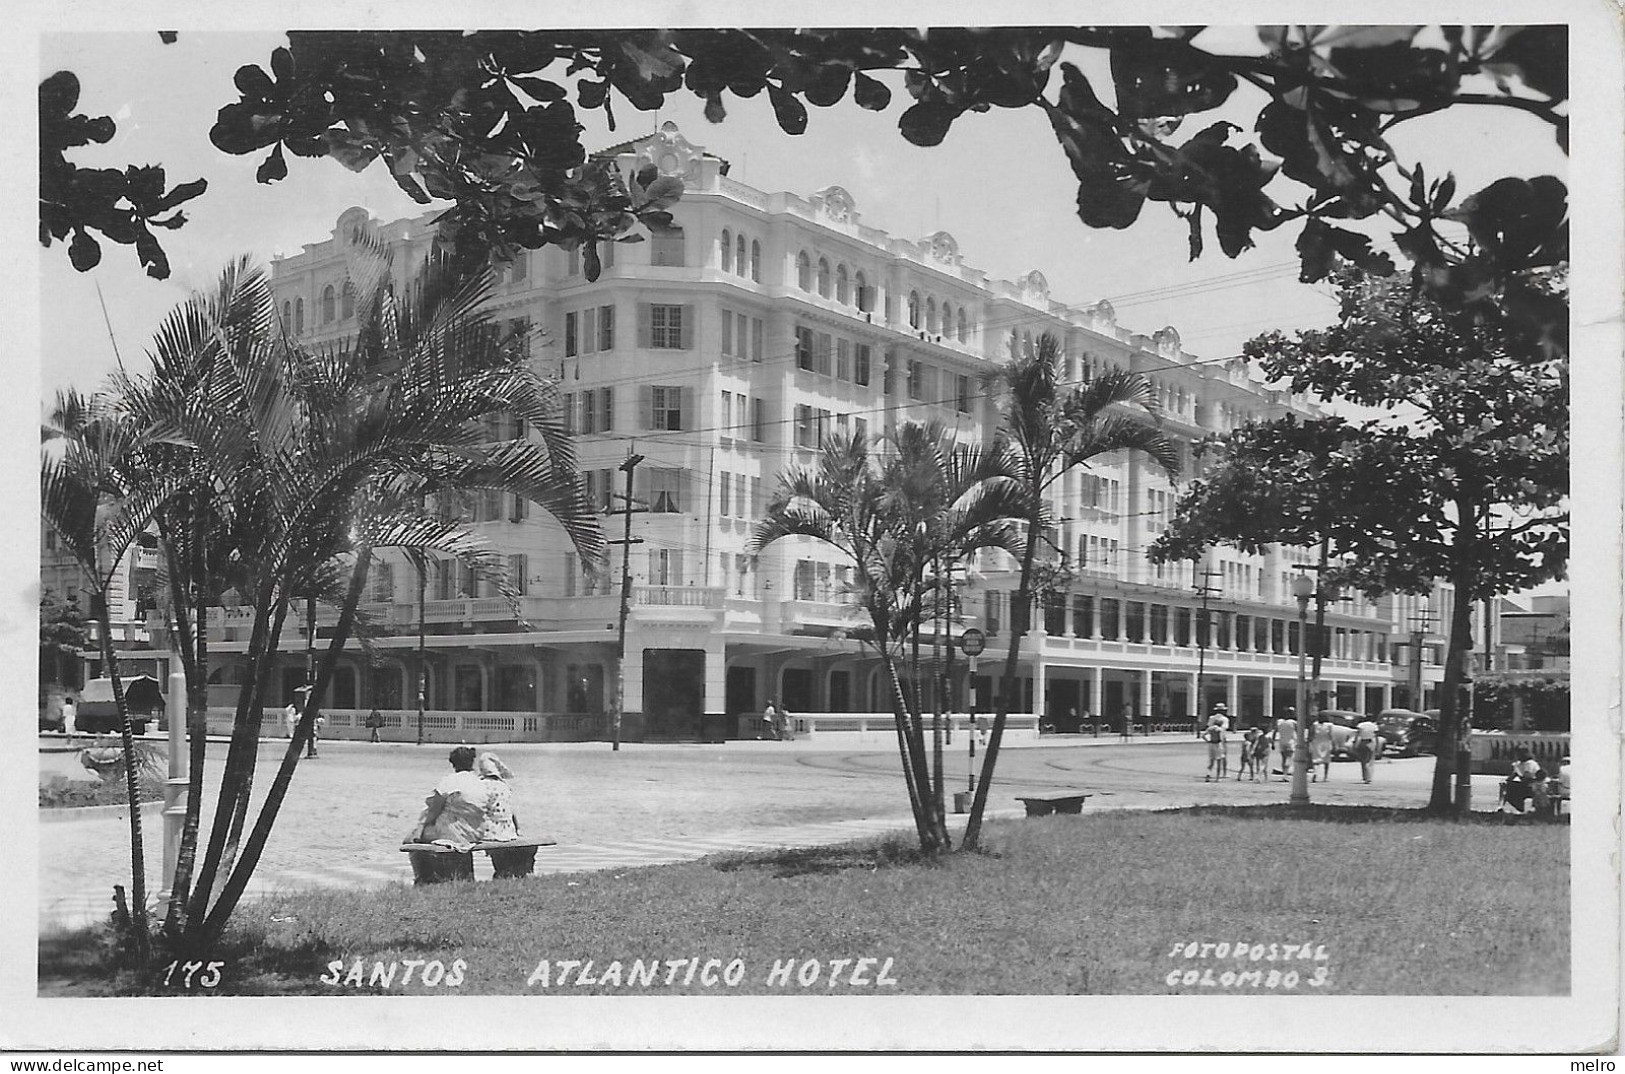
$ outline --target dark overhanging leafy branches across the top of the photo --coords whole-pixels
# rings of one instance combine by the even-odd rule
[[[850,96],[886,110],[900,81],[897,127],[918,146],[968,112],[1042,109],[1090,227],[1128,227],[1159,201],[1190,224],[1194,258],[1209,236],[1237,257],[1295,224],[1313,283],[1337,257],[1391,273],[1346,226],[1388,221],[1435,297],[1510,312],[1547,351],[1566,348],[1566,302],[1524,283],[1568,255],[1563,182],[1508,175],[1458,197],[1453,175],[1430,177],[1388,140],[1443,109],[1505,107],[1545,122],[1566,151],[1566,26],[1259,26],[1261,47],[1245,50],[1209,47],[1206,29],[291,32],[265,67],[237,71],[239,97],[210,133],[226,153],[265,153],[262,182],[288,174],[284,153],[356,171],[382,161],[419,203],[453,203],[442,229],[465,250],[583,244],[592,278],[598,244],[635,239],[679,188],[650,175],[629,190],[590,161],[580,112],[601,109],[614,128],[622,101],[648,112],[694,94],[722,122],[730,99],[765,93],[800,135],[809,107]],[[1107,60],[1110,86],[1072,62],[1089,54]],[[1181,136],[1243,86],[1264,96],[1251,130],[1211,122]]]

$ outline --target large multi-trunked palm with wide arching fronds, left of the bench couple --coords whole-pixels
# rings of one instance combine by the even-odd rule
[[[382,255],[370,271],[361,265],[351,276],[379,281],[362,291],[366,330],[354,346],[296,346],[276,328],[263,273],[237,265],[213,296],[177,310],[151,375],[127,385],[130,409],[146,419],[162,416],[187,445],[185,458],[174,461],[190,478],[188,499],[174,502],[167,546],[177,617],[184,609],[195,621],[226,585],[254,609],[202,861],[202,705],[192,718],[193,793],[169,920],[184,949],[205,949],[219,936],[258,863],[312,733],[317,699],[361,621],[374,554],[400,549],[418,565],[427,556],[455,556],[512,595],[486,539],[427,512],[424,496],[520,494],[559,523],[585,561],[603,557],[556,392],[483,312],[489,273],[465,276],[436,263],[416,307],[396,302],[382,284],[388,276]],[[481,419],[499,414],[523,422],[528,434],[489,442]],[[288,611],[307,596],[336,608],[338,624],[250,825],[263,699]],[[197,656],[187,661],[193,686],[206,682]]]

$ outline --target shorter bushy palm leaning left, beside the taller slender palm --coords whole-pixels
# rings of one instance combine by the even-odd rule
[[[856,567],[852,593],[868,613],[892,695],[897,749],[921,850],[949,848],[941,780],[925,749],[918,676],[904,687],[905,647],[933,614],[926,574],[939,556],[1019,548],[1020,489],[999,457],[957,447],[936,422],[904,426],[871,450],[864,434],[827,437],[812,466],[782,474],[751,549],[808,536],[845,552]]]

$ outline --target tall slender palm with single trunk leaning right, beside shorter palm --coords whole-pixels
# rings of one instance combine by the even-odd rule
[[[999,741],[1016,697],[1016,668],[1020,642],[1032,614],[1034,578],[1038,565],[1038,541],[1048,515],[1043,492],[1068,470],[1086,466],[1089,460],[1112,452],[1144,452],[1165,473],[1178,471],[1173,444],[1157,429],[1162,408],[1150,383],[1139,374],[1108,369],[1089,377],[1072,390],[1063,385],[1061,343],[1051,333],[1038,338],[1030,351],[1014,351],[1006,366],[988,377],[1003,388],[1004,401],[998,431],[998,447],[1008,457],[1006,466],[1020,483],[1025,499],[1025,539],[1020,551],[1020,575],[1011,606],[1009,652],[994,702],[993,730],[982,759],[982,778],[965,824],[962,847],[972,850],[982,834],[988,786],[998,764]],[[1144,416],[1134,411],[1142,411]],[[1150,418],[1150,422],[1146,418]]]

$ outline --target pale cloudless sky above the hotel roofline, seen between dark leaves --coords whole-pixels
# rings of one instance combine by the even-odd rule
[[[1211,34],[1256,41],[1245,28]],[[231,258],[249,253],[268,262],[273,253],[296,253],[302,244],[328,237],[351,205],[384,219],[421,211],[382,166],[354,174],[333,161],[289,156],[289,177],[262,185],[254,180],[260,154],[234,158],[213,148],[208,130],[214,114],[237,96],[234,71],[244,63],[268,65],[283,42],[276,32],[182,32],[172,45],[154,32],[42,34],[41,76],[76,71],[83,86],[78,110],[112,115],[119,123],[109,145],[76,151],[75,162],[159,162],[171,185],[198,177],[210,184],[184,206],[185,227],[159,234],[172,265],[166,281],[146,278],[128,247],[104,244],[102,263],[91,273],[73,271],[63,244],[36,247],[44,296],[42,403],[62,387],[94,388],[120,356],[128,369],[143,367],[162,315],[190,291],[208,288]],[[1092,55],[1069,58],[1079,60],[1097,88],[1110,89]],[[1243,88],[1224,110],[1199,122],[1228,119],[1250,128],[1259,104],[1254,94]],[[592,149],[676,122],[689,141],[728,159],[731,177],[752,187],[803,195],[832,184],[845,187],[864,224],[907,239],[949,231],[967,265],[1004,279],[1037,268],[1053,299],[1110,299],[1121,325],[1147,335],[1173,325],[1185,349],[1204,359],[1235,354],[1245,340],[1269,328],[1321,327],[1334,317],[1324,284],[1297,283],[1292,226],[1258,236],[1258,247],[1235,260],[1224,257],[1209,232],[1207,252],[1190,263],[1186,226],[1162,205],[1146,205],[1124,231],[1095,231],[1077,221],[1076,180],[1042,110],[972,114],[941,146],[916,148],[897,133],[902,107],[900,91],[882,114],[847,99],[811,109],[808,132],[790,136],[774,122],[767,94],[728,99],[728,119],[718,125],[686,94],[670,97],[660,114],[618,101],[614,132],[600,112],[582,115],[588,128],[583,145]],[[1401,153],[1417,154],[1430,174],[1454,171],[1462,192],[1502,174],[1566,172],[1549,130],[1506,109],[1454,109],[1407,127],[1399,128]],[[1490,146],[1502,151],[1487,153]],[[1274,193],[1284,203],[1300,192],[1284,180],[1279,187]]]

